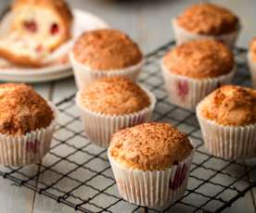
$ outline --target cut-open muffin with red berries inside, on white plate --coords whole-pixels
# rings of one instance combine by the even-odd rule
[[[9,31],[1,36],[0,56],[23,67],[41,67],[70,39],[72,14],[64,0],[16,0]]]

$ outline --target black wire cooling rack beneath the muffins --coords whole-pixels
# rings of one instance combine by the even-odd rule
[[[253,180],[256,166],[250,166],[251,162],[227,161],[209,155],[204,149],[195,114],[169,103],[160,75],[159,60],[173,44],[166,44],[148,54],[140,76],[140,82],[158,99],[153,119],[177,126],[197,146],[186,194],[164,211],[221,212],[251,192],[256,185]],[[235,50],[238,64],[235,83],[250,86],[245,52],[241,48]],[[83,133],[74,95],[60,101],[57,106],[61,112],[58,130],[43,162],[20,168],[1,167],[0,175],[83,212],[140,212],[141,209],[158,212],[122,200],[106,149],[91,144]]]

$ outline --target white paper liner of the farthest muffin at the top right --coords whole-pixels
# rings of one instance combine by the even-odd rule
[[[227,44],[229,47],[235,46],[237,42],[237,37],[239,33],[239,27],[237,31],[222,34],[222,35],[202,35],[193,33],[190,31],[186,31],[186,29],[181,28],[178,24],[176,19],[173,19],[173,31],[174,31],[174,37],[176,44],[183,44],[191,40],[198,40],[198,39],[214,39],[218,41],[224,42],[224,44]]]

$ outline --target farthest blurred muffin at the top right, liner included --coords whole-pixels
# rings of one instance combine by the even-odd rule
[[[239,19],[228,9],[211,3],[195,4],[173,19],[177,44],[211,38],[232,47],[237,41]]]

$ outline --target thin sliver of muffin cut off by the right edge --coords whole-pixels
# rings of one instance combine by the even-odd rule
[[[250,75],[252,86],[256,89],[256,38],[253,38],[250,43],[250,50],[248,53],[248,63],[250,68]]]

